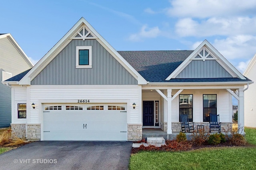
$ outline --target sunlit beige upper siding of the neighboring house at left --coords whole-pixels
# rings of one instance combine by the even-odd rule
[[[16,76],[29,68],[31,68],[31,66],[26,62],[11,41],[7,37],[1,38],[0,69],[12,73],[12,76]]]

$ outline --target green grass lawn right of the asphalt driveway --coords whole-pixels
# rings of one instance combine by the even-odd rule
[[[256,129],[245,128],[246,141],[256,145]],[[256,146],[207,148],[186,152],[132,154],[130,170],[255,170]]]

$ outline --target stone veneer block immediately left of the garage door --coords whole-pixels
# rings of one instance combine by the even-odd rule
[[[40,141],[41,139],[40,124],[27,125],[27,139],[30,141]]]

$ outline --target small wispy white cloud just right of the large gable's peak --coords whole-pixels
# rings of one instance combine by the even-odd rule
[[[139,33],[130,35],[131,41],[142,41],[144,38],[156,38],[160,35],[160,29],[158,27],[149,28],[147,25],[143,25]]]

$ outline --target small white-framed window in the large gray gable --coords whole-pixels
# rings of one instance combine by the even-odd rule
[[[92,68],[92,46],[76,47],[76,68]]]

